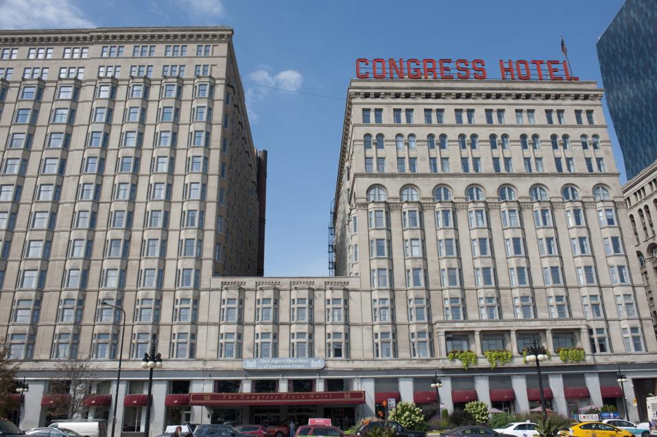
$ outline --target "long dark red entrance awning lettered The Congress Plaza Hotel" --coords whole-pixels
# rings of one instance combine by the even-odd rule
[[[365,392],[190,393],[189,405],[245,407],[250,405],[358,405]]]

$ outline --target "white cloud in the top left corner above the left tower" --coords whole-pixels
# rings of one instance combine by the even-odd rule
[[[71,0],[0,0],[0,28],[95,27]]]

